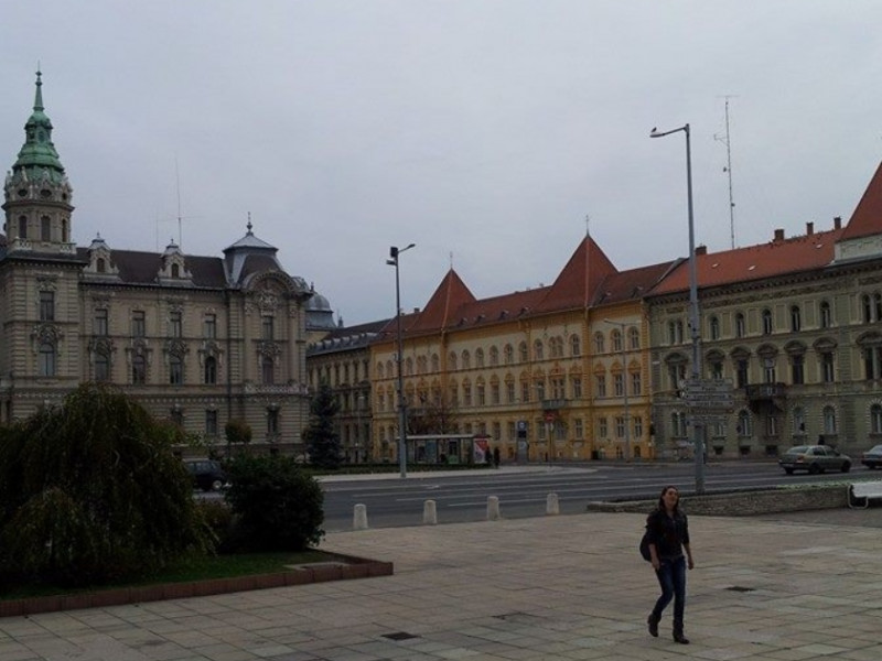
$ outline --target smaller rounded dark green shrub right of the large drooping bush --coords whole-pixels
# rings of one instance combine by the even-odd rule
[[[322,488],[293,457],[240,455],[227,477],[236,551],[303,551],[324,537]]]

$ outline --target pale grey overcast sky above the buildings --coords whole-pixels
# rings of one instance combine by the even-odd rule
[[[619,269],[848,220],[882,156],[876,0],[3,2],[0,161],[34,72],[74,239],[277,246],[346,325],[549,284],[585,232]],[[180,192],[180,207],[179,207]],[[180,212],[179,212],[180,208]],[[452,258],[451,258],[452,254]]]

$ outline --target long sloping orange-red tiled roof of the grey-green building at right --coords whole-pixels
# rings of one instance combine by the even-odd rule
[[[833,245],[843,231],[831,229],[759,246],[699,254],[696,261],[698,286],[732,284],[826,267],[832,262]],[[688,289],[689,260],[684,260],[652,294],[668,294]]]

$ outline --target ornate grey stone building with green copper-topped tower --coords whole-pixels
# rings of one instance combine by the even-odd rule
[[[3,186],[0,421],[106,381],[223,454],[244,420],[252,447],[302,454],[309,414],[306,312],[313,290],[247,231],[223,257],[118,250],[72,239],[73,188],[36,74],[24,144]]]

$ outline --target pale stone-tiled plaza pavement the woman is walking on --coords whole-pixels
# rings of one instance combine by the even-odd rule
[[[688,506],[688,502],[686,503]],[[691,517],[686,631],[657,594],[644,517],[340,532],[323,548],[395,575],[0,619],[0,661],[882,658],[882,530]]]

